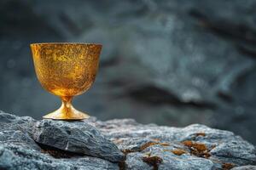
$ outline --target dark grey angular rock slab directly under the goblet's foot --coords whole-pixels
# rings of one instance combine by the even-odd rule
[[[108,161],[124,160],[117,146],[86,122],[43,120],[33,127],[33,139],[39,144]]]

